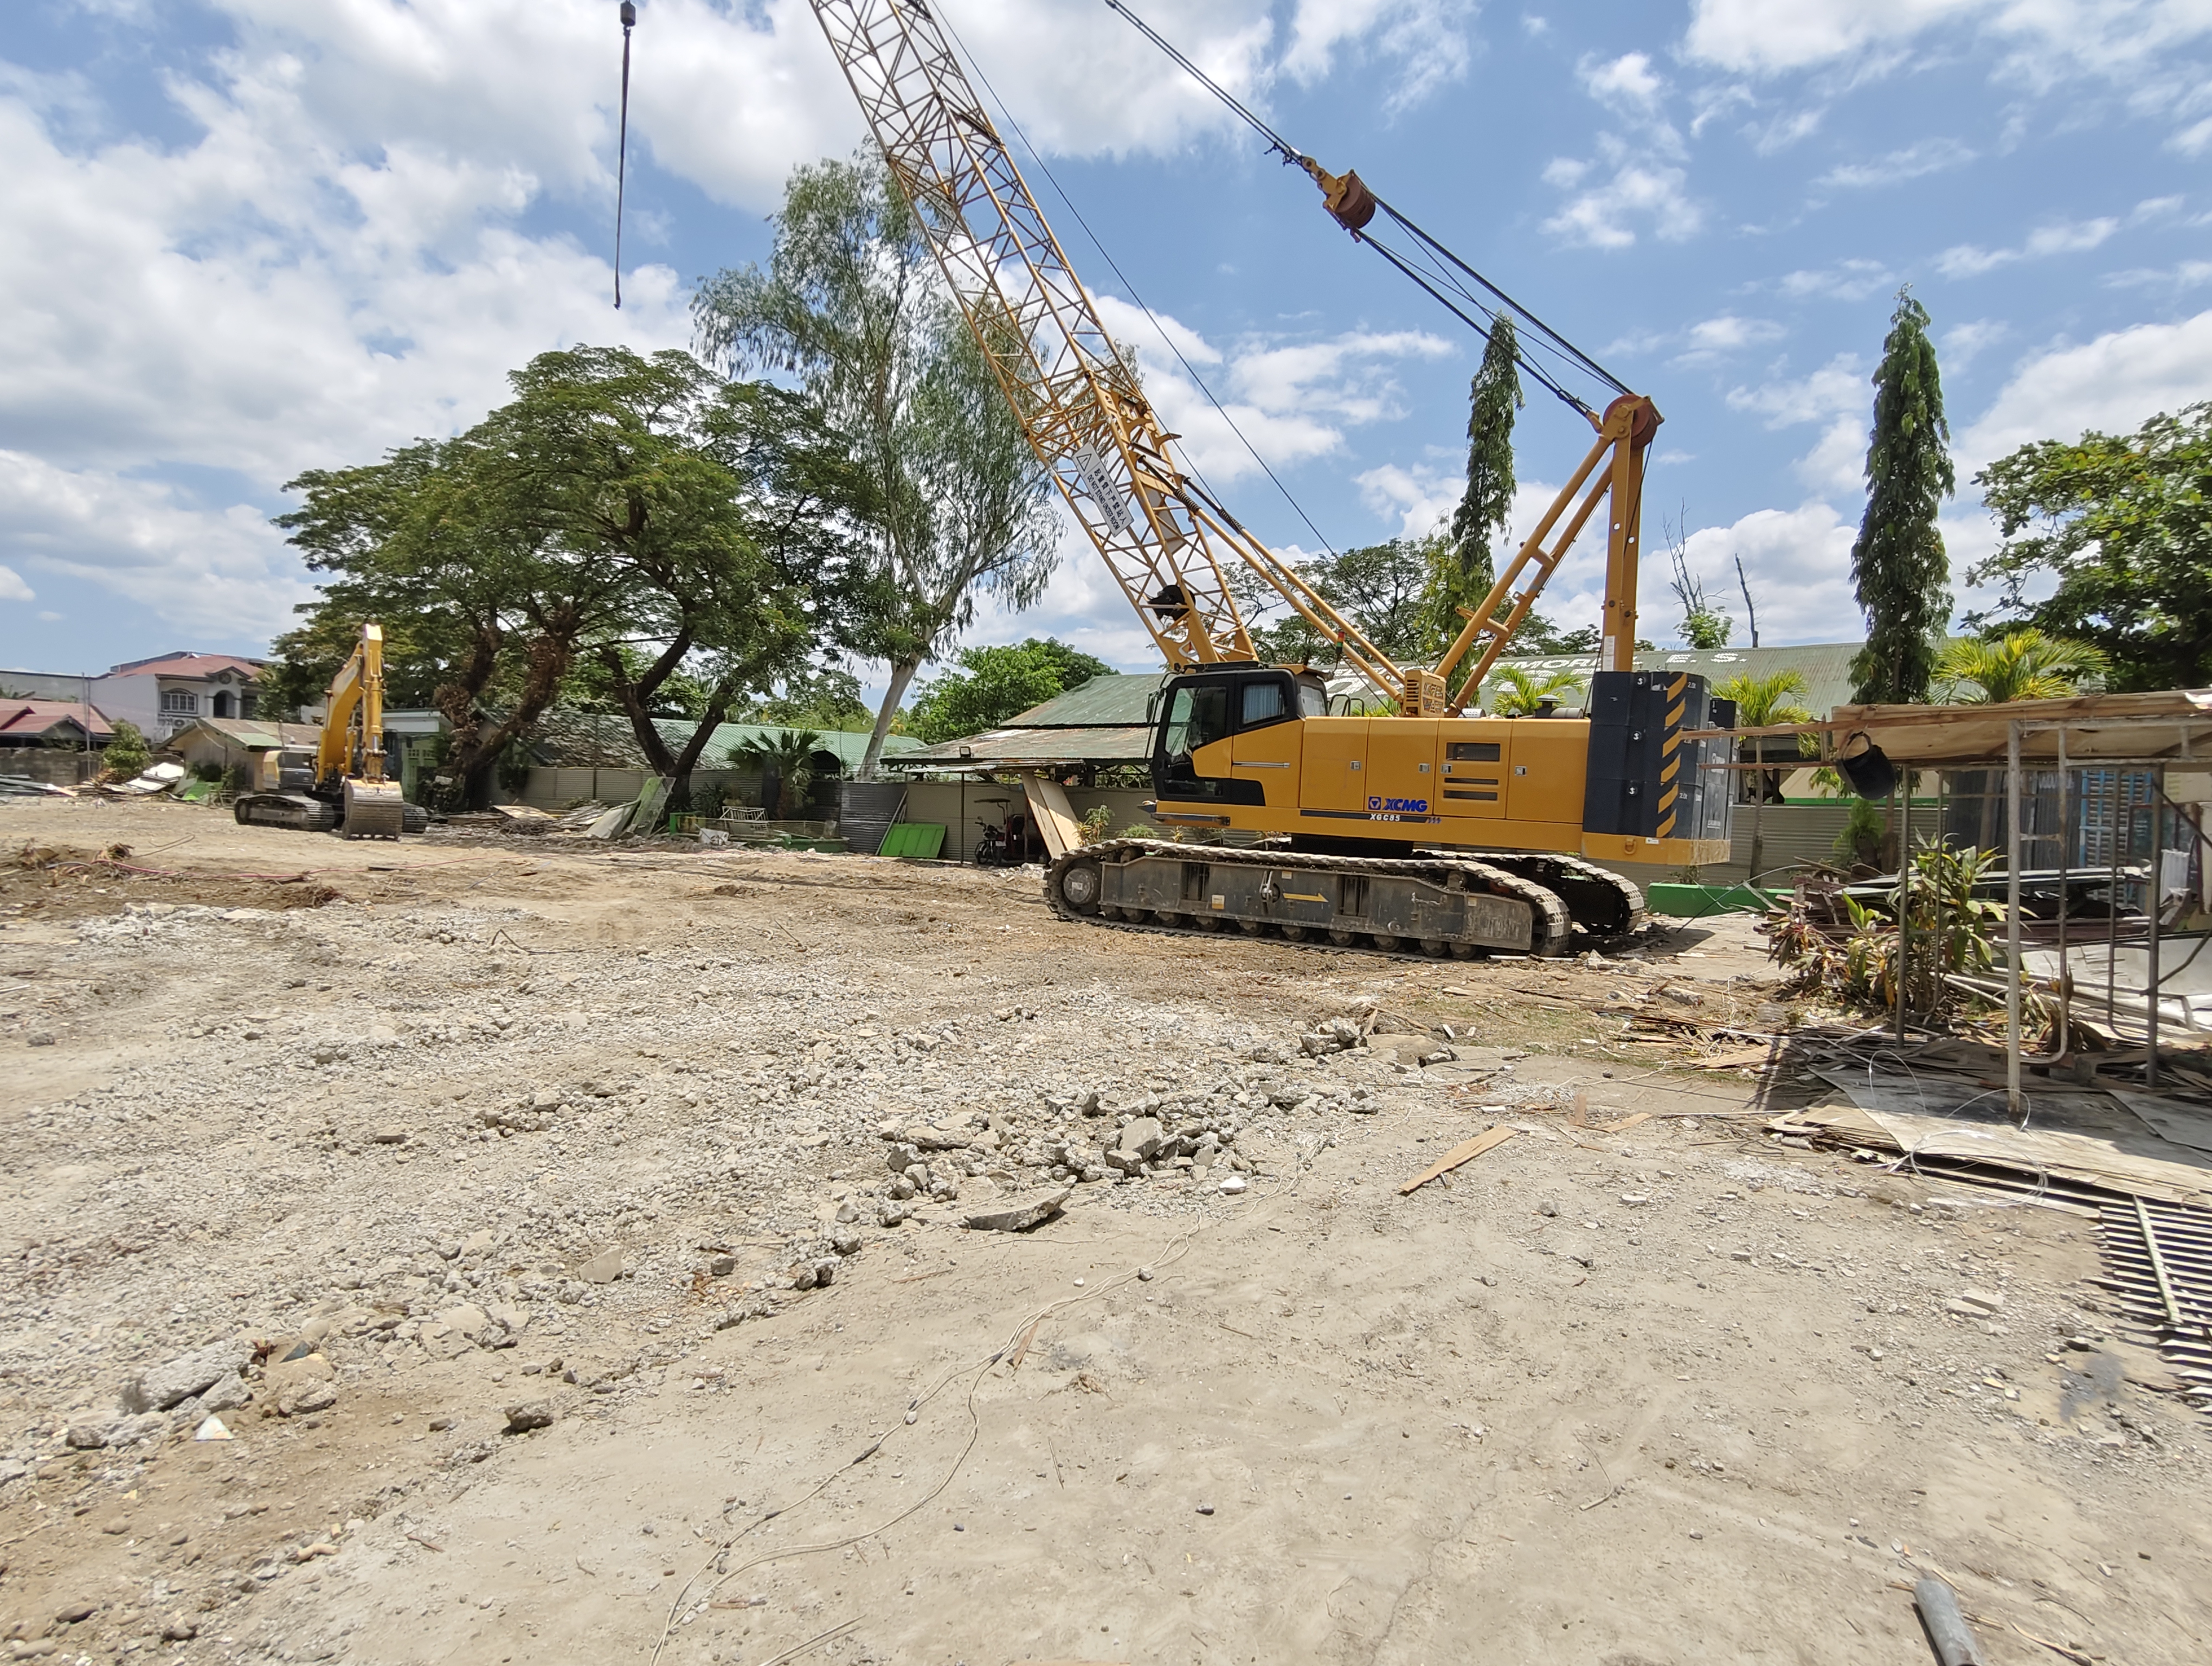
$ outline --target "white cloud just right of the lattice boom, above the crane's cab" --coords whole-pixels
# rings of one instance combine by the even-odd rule
[[[1323,341],[1252,336],[1221,350],[1168,314],[1157,314],[1155,330],[1144,310],[1115,294],[1097,294],[1095,301],[1108,334],[1135,354],[1161,420],[1183,436],[1183,456],[1217,485],[1261,471],[1245,440],[1281,469],[1329,456],[1343,445],[1347,427],[1402,416],[1405,403],[1391,365],[1405,358],[1449,358],[1455,352],[1449,341],[1418,330],[1352,330]],[[1161,347],[1161,334],[1192,365],[1219,367],[1208,383],[1223,409],[1214,409]],[[1237,438],[1239,431],[1243,438]]]

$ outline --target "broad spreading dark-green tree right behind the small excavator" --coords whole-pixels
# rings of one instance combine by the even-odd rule
[[[447,801],[467,803],[591,655],[681,803],[721,708],[810,642],[807,597],[785,569],[812,551],[779,562],[790,504],[743,467],[761,412],[787,427],[794,396],[626,347],[540,354],[509,383],[515,398],[453,440],[292,482],[305,502],[279,524],[332,577],[279,642],[274,686],[319,690],[358,624],[380,622],[387,699],[427,693],[447,717]],[[834,522],[836,502],[801,500]],[[708,693],[672,750],[655,717],[695,655]]]

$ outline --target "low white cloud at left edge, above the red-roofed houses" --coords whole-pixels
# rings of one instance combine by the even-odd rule
[[[33,571],[88,580],[226,642],[290,628],[307,597],[283,533],[252,504],[208,513],[170,487],[22,451],[0,451],[0,542]],[[29,586],[9,580],[29,602]],[[4,584],[0,595],[11,595]]]

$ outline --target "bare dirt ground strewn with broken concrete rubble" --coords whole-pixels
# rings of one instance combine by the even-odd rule
[[[1418,962],[1033,872],[4,805],[0,1637],[1920,1662],[1938,1573],[1991,1662],[2212,1655],[2208,1420],[2093,1221],[1778,1144],[1823,1084],[1624,996],[1783,1020],[1741,923]]]

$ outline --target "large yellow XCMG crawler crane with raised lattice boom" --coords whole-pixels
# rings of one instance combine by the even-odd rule
[[[1398,666],[1177,467],[1172,436],[969,86],[938,2],[812,7],[1031,447],[1168,664],[1152,814],[1199,839],[1245,839],[1071,850],[1046,870],[1053,909],[1385,951],[1559,954],[1577,927],[1606,938],[1644,918],[1641,892],[1590,858],[1725,861],[1721,759],[1681,739],[1714,721],[1705,684],[1632,659],[1652,403],[1582,407],[1597,438],[1537,531],[1440,664]],[[1365,186],[1310,173],[1349,226]],[[1606,611],[1590,715],[1464,715],[1599,504]],[[1316,673],[1259,662],[1221,577],[1237,560],[1338,646],[1383,715],[1332,715]]]

